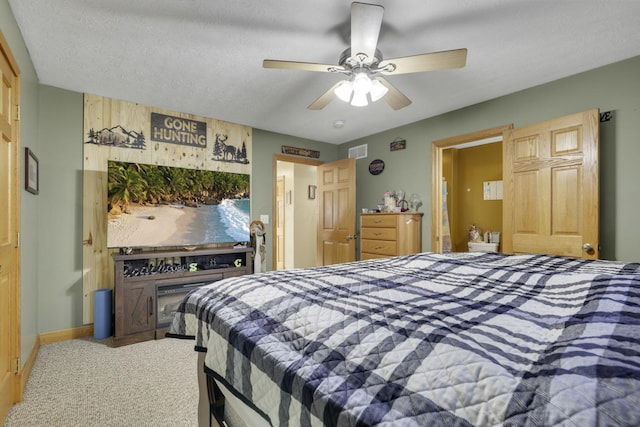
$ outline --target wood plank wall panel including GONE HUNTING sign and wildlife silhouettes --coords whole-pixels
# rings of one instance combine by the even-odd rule
[[[84,95],[83,321],[93,294],[113,287],[107,246],[108,163],[251,174],[252,128],[142,104]]]

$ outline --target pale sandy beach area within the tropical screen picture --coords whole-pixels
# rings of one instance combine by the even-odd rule
[[[109,221],[107,246],[194,245],[204,239],[204,227],[198,229],[197,222],[193,221],[194,208],[180,205],[131,206],[129,211],[129,214]]]

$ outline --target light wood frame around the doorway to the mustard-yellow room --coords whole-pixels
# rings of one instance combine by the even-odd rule
[[[442,252],[442,156],[447,148],[455,148],[482,139],[502,136],[503,132],[513,128],[513,124],[496,126],[464,135],[439,139],[431,143],[431,251]]]

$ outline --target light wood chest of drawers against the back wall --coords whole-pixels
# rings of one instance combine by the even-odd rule
[[[360,259],[386,258],[422,251],[422,213],[360,215]]]

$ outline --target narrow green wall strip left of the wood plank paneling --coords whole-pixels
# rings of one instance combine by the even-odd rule
[[[83,95],[40,87],[38,331],[82,325]]]

